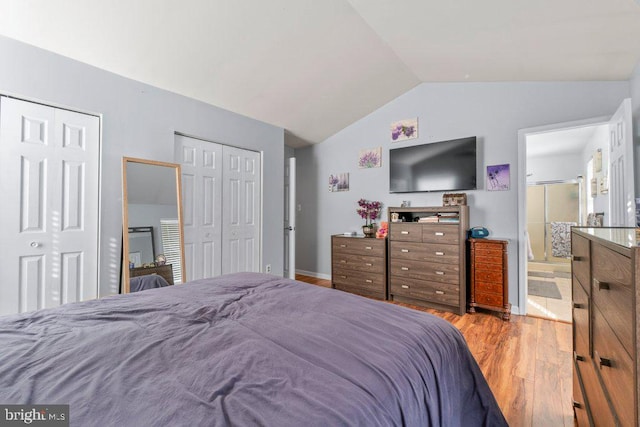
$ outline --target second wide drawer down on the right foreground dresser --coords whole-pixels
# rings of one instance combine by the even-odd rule
[[[633,361],[598,307],[593,308],[593,361],[611,398],[620,425],[635,425]]]

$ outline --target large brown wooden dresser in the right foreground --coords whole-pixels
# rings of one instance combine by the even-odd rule
[[[638,426],[640,248],[634,228],[573,228],[573,406],[579,426]]]

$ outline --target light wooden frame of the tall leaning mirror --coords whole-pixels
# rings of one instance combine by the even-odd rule
[[[123,157],[122,158],[122,291],[123,294],[130,292],[129,287],[129,260],[127,254],[129,253],[129,203],[128,203],[128,190],[127,190],[127,165],[129,163],[142,163],[151,166],[162,166],[173,168],[176,174],[176,202],[178,210],[178,224],[180,224],[180,260],[182,271],[182,283],[186,280],[186,274],[184,270],[184,226],[182,221],[182,173],[180,165],[177,163],[159,162],[156,160],[138,159],[135,157]]]

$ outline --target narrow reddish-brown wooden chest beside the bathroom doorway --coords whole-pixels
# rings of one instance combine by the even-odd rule
[[[507,270],[508,244],[506,240],[469,239],[469,313],[475,313],[476,307],[481,307],[501,312],[504,320],[511,317]]]

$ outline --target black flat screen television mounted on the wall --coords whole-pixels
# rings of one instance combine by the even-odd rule
[[[476,137],[389,150],[389,192],[476,189]]]

